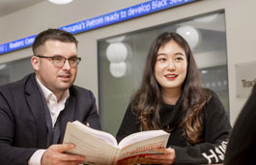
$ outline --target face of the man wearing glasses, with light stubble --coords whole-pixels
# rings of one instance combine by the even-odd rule
[[[45,41],[37,51],[42,56],[62,56],[66,59],[77,56],[77,48],[73,42]],[[55,95],[61,94],[73,84],[77,66],[72,67],[66,60],[62,68],[56,67],[50,58],[32,57],[32,66],[36,70],[37,77]]]

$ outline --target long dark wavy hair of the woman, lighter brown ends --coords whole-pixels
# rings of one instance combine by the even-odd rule
[[[163,104],[161,87],[156,81],[155,66],[158,49],[168,41],[176,41],[185,50],[187,60],[186,77],[183,83],[183,102],[181,113],[185,113],[182,124],[189,144],[201,141],[203,130],[202,108],[210,99],[208,92],[201,87],[199,71],[193,54],[185,41],[177,33],[165,32],[159,35],[151,45],[140,89],[131,99],[131,109],[138,115],[142,130],[163,129],[160,126],[159,112]]]

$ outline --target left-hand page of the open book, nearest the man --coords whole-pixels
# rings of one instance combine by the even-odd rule
[[[86,131],[88,129],[85,130],[80,124],[78,125],[67,124],[63,143],[75,145],[75,149],[68,152],[84,155],[86,157],[84,164],[112,164],[119,149],[100,139],[99,134],[95,136],[92,131]]]

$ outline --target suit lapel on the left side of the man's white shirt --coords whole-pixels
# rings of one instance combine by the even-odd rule
[[[28,78],[25,92],[27,103],[35,119],[38,132],[39,149],[45,149],[47,145],[47,127],[45,121],[45,109],[43,98],[40,95],[39,87],[36,82],[35,74]]]

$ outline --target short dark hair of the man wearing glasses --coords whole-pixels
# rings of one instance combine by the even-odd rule
[[[60,29],[47,29],[41,32],[35,39],[32,44],[33,53],[36,54],[36,50],[38,47],[42,46],[45,41],[63,41],[63,42],[73,42],[77,46],[78,41],[74,38],[74,36]]]

